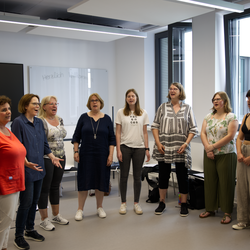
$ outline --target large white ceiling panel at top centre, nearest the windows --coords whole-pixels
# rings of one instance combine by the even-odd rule
[[[213,10],[173,0],[85,0],[68,12],[166,26]]]

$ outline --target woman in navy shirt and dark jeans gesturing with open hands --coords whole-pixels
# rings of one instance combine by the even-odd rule
[[[25,158],[25,190],[20,192],[20,204],[16,217],[14,245],[19,249],[29,249],[25,239],[44,241],[44,237],[34,230],[36,206],[40,197],[43,178],[46,174],[43,156],[47,155],[53,165],[62,168],[59,159],[49,148],[43,122],[37,118],[40,107],[39,96],[24,95],[18,103],[21,115],[14,119],[11,130],[27,151]],[[25,230],[25,234],[24,234]]]

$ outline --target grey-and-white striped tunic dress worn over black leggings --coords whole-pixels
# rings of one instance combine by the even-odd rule
[[[192,167],[191,148],[187,146],[183,154],[177,150],[186,142],[190,133],[197,135],[198,129],[191,107],[183,102],[180,110],[175,113],[171,102],[163,103],[158,108],[151,129],[159,130],[159,139],[165,146],[165,153],[160,154],[157,145],[154,145],[153,158],[165,163],[185,162],[185,167]]]

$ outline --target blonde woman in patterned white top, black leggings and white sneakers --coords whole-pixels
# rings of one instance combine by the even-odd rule
[[[38,118],[43,122],[45,134],[52,153],[64,161],[61,162],[62,168],[53,165],[47,155],[44,158],[46,175],[43,178],[41,195],[38,201],[38,208],[41,215],[40,227],[47,231],[53,231],[55,226],[51,223],[68,225],[69,221],[59,214],[59,187],[62,181],[65,168],[65,151],[63,139],[67,131],[63,125],[63,119],[57,116],[57,98],[46,96],[42,99],[38,112]],[[48,218],[48,198],[51,203],[52,219]]]

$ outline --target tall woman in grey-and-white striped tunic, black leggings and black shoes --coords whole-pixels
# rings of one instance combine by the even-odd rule
[[[169,102],[160,105],[151,126],[155,139],[153,158],[159,165],[160,203],[155,214],[165,210],[171,164],[175,163],[181,194],[180,215],[187,216],[188,169],[192,165],[190,142],[198,129],[191,107],[182,102],[186,99],[183,86],[172,83],[167,97]]]

